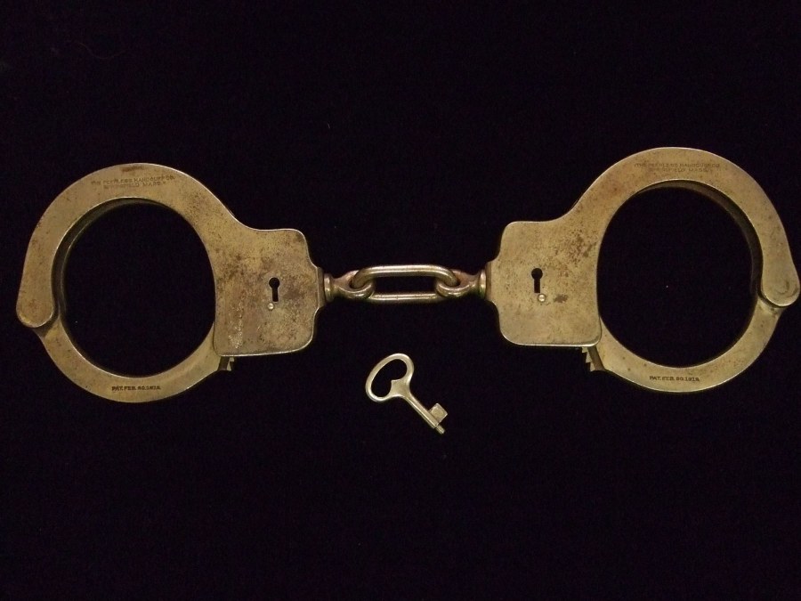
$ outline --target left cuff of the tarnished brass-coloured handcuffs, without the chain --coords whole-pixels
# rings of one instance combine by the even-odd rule
[[[103,370],[69,336],[64,316],[64,265],[77,237],[100,215],[150,202],[181,215],[198,233],[214,273],[214,325],[194,353],[171,370],[132,378]],[[272,302],[268,282],[280,281]],[[28,246],[17,314],[78,386],[112,401],[154,401],[178,394],[233,357],[289,353],[312,341],[324,303],[322,272],[312,264],[303,234],[254,230],[239,223],[210,191],[166,166],[132,164],[101,169],[53,200]]]

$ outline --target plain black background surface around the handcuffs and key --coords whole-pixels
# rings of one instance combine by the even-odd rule
[[[689,146],[755,177],[798,259],[798,17],[670,4],[4,14],[0,589],[797,596],[797,307],[739,378],[668,396],[588,373],[577,350],[506,343],[478,299],[337,301],[302,353],[127,406],[63,378],[14,305],[45,207],[135,161],[196,177],[247,225],[303,231],[336,275],[476,272],[506,223],[562,215],[635,151]],[[600,272],[604,319],[655,360],[708,358],[748,313],[745,241],[690,193],[624,207]],[[203,248],[156,208],[87,231],[67,292],[77,340],[117,370],[174,364],[214,316]],[[417,396],[449,410],[446,435],[364,395],[398,351]]]

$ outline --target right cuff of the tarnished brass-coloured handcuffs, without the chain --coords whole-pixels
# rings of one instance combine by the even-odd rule
[[[654,188],[700,192],[732,215],[752,256],[754,310],[745,331],[710,361],[670,367],[644,360],[611,335],[598,313],[598,254],[611,218],[628,199]],[[535,293],[532,270],[542,272]],[[773,334],[781,311],[798,297],[798,275],[779,215],[740,167],[703,150],[659,148],[607,169],[566,215],[515,222],[487,265],[487,299],[501,333],[517,345],[580,346],[593,370],[638,386],[686,393],[717,386],[745,370]]]

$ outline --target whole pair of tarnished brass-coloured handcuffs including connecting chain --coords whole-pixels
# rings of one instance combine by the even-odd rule
[[[709,361],[671,367],[648,361],[612,336],[598,311],[596,278],[603,234],[615,212],[655,188],[699,192],[732,215],[752,257],[748,325]],[[198,233],[214,274],[214,323],[185,360],[158,374],[132,377],[102,369],[69,334],[64,268],[69,249],[95,219],[132,203],[155,203]],[[425,292],[382,293],[376,280],[425,276]],[[17,314],[58,368],[92,394],[145,402],[182,393],[231,362],[290,353],[312,341],[317,313],[337,296],[373,303],[427,303],[468,294],[498,310],[501,334],[515,345],[572,346],[591,370],[609,371],[651,390],[689,393],[723,384],[756,360],[781,312],[798,296],[798,275],[771,201],[740,167],[703,150],[657,148],[624,158],[598,177],[565,215],[509,223],[498,256],[475,274],[439,265],[379,265],[335,278],[312,263],[303,234],[255,230],[190,175],[150,164],[109,166],[86,175],[53,200],[28,246]]]

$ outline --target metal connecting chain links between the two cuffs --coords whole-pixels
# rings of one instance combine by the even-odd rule
[[[409,277],[433,278],[433,289],[430,292],[376,292],[376,280]],[[487,290],[487,274],[483,269],[471,275],[432,264],[376,265],[347,272],[338,278],[326,273],[323,280],[329,303],[337,296],[368,303],[439,303],[447,298],[461,298],[468,294],[483,298]]]

